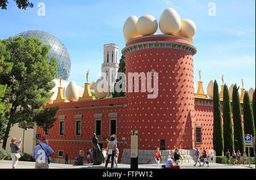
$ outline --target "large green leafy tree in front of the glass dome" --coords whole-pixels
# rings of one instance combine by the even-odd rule
[[[57,72],[57,61],[53,56],[49,59],[50,46],[42,46],[42,42],[35,37],[26,40],[21,36],[10,37],[2,40],[2,44],[10,53],[5,61],[13,63],[8,74],[0,74],[0,82],[7,84],[10,89],[2,99],[11,104],[5,113],[7,126],[2,145],[5,149],[11,126],[19,123],[19,127],[33,128],[36,115],[42,112],[41,107],[53,95],[51,89],[55,87],[53,79]]]

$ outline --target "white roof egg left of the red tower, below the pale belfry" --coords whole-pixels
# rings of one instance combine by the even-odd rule
[[[98,78],[94,85],[94,95],[97,98],[106,98],[109,95],[109,85],[105,78],[102,76]]]

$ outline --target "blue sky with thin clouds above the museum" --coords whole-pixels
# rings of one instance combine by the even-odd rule
[[[162,12],[174,8],[181,19],[195,22],[197,32],[193,45],[194,76],[197,87],[201,70],[204,91],[211,79],[221,85],[221,75],[228,87],[232,83],[245,89],[255,87],[255,1],[221,0],[92,0],[92,1],[34,1],[34,8],[19,10],[9,0],[7,10],[0,9],[0,39],[20,32],[39,30],[59,38],[71,57],[71,74],[84,85],[86,70],[90,68],[89,82],[96,82],[103,62],[103,45],[114,42],[125,47],[122,28],[131,15],[138,18],[150,14],[159,20]],[[38,16],[39,2],[46,5],[46,16]],[[216,5],[216,16],[209,16],[209,3]],[[156,32],[162,34],[159,29]]]

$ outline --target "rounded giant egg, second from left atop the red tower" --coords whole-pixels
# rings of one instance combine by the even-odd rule
[[[137,31],[142,36],[154,35],[158,29],[158,21],[151,15],[144,15],[138,19]]]

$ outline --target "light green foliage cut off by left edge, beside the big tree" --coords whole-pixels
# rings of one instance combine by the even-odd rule
[[[0,40],[0,75],[8,74],[13,68],[13,63],[6,62],[5,59],[10,58],[10,52],[6,51],[6,46]],[[3,101],[3,97],[9,92],[7,84],[0,82],[0,140],[3,139],[6,130],[6,118],[4,114],[11,108],[11,103]]]

